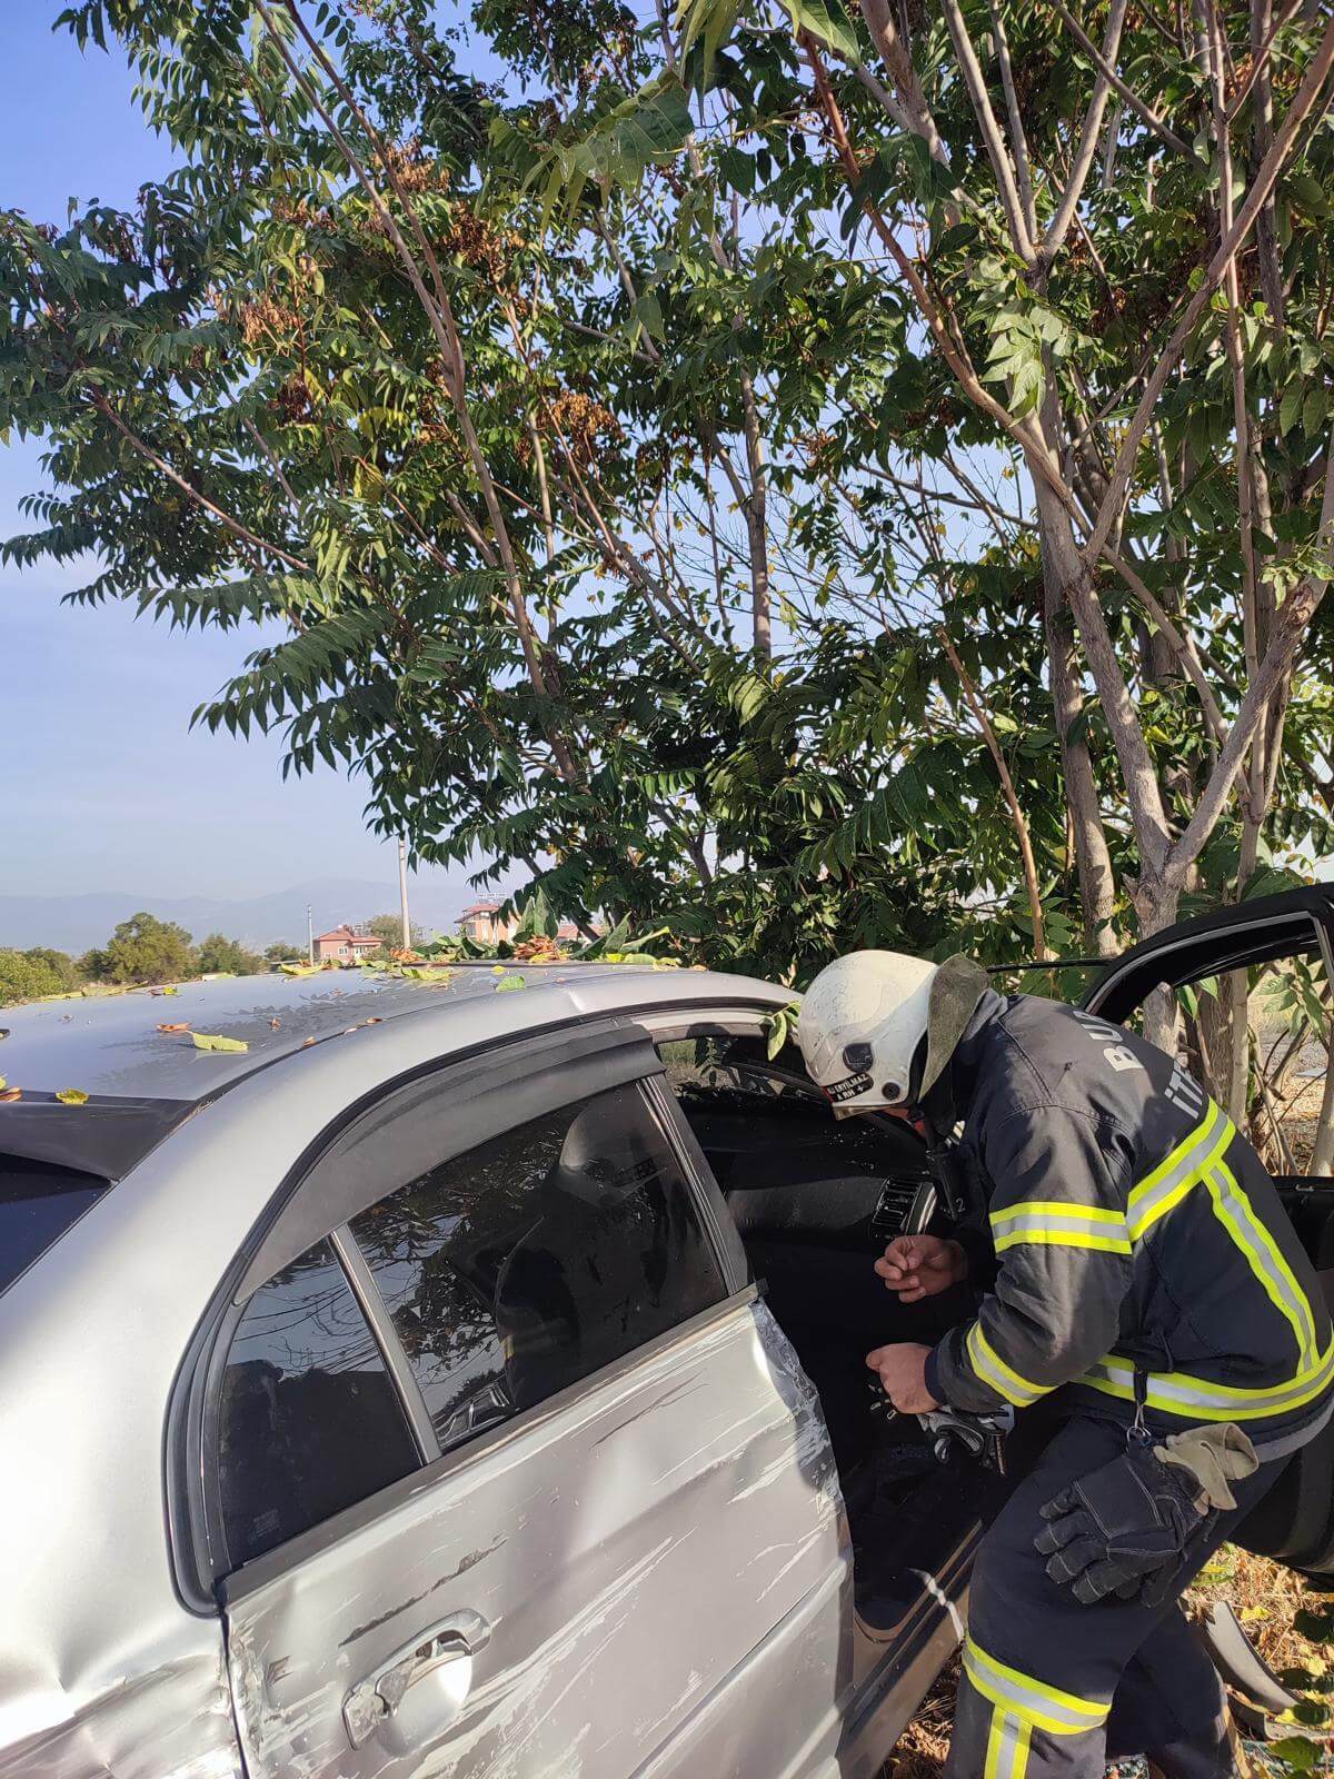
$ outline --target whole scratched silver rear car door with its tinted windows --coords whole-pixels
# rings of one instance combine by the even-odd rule
[[[832,1774],[832,1457],[658,1069],[589,1026],[409,1082],[245,1260],[201,1450],[251,1779]]]

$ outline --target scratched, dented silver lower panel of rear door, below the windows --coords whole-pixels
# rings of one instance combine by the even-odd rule
[[[850,1558],[784,1345],[763,1306],[724,1309],[541,1425],[445,1461],[374,1523],[274,1553],[269,1580],[263,1558],[244,1571],[226,1615],[251,1779],[409,1779],[441,1761],[455,1779],[697,1772],[685,1726],[761,1649],[733,1729],[777,1713],[788,1752],[765,1770],[809,1774],[792,1751],[822,1724],[832,1751],[838,1688],[793,1644],[838,1647]],[[347,1701],[436,1626],[470,1621],[480,1647],[461,1633],[455,1662],[349,1749]],[[470,1672],[452,1685],[450,1667]]]

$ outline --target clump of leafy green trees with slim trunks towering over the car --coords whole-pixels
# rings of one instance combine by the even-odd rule
[[[427,0],[68,18],[189,160],[4,219],[9,555],[279,626],[199,720],[797,978],[1329,850],[1314,7],[486,0],[500,89]]]

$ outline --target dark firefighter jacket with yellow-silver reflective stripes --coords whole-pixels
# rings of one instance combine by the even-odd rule
[[[996,1277],[932,1352],[932,1395],[1030,1407],[1073,1384],[1081,1407],[1129,1420],[1138,1370],[1160,1429],[1236,1421],[1295,1446],[1329,1418],[1311,1263],[1259,1156],[1185,1069],[1092,1014],[987,991],[944,1092]]]

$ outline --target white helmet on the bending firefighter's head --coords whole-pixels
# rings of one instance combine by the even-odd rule
[[[985,986],[968,957],[932,964],[904,952],[850,952],[822,970],[802,996],[797,1042],[834,1117],[920,1101]]]

